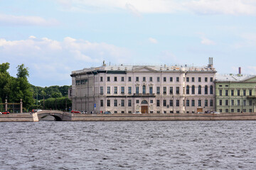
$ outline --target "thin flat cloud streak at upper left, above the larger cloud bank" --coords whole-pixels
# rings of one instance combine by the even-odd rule
[[[39,16],[13,16],[0,14],[1,26],[57,26],[55,19],[46,20]]]

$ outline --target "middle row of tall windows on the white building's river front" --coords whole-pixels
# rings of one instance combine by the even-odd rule
[[[114,94],[117,94],[117,86],[114,86]],[[107,94],[111,94],[111,87],[107,86]],[[186,94],[195,94],[196,87],[195,86],[186,86]],[[135,93],[139,94],[139,86],[135,87]],[[103,86],[100,86],[100,94],[104,94]],[[121,94],[124,94],[124,86],[121,86]],[[128,86],[128,94],[132,94],[132,86]],[[142,94],[146,94],[146,86],[142,86]],[[153,94],[153,87],[149,86],[149,94]],[[160,94],[160,86],[156,86],[156,94]],[[167,87],[163,87],[163,94],[167,94]],[[169,94],[174,94],[174,87],[169,87]],[[180,94],[180,87],[176,86],[176,94]],[[202,86],[198,86],[198,94],[202,94]],[[204,94],[208,94],[208,86],[204,87]],[[213,94],[213,86],[210,86],[210,94]]]

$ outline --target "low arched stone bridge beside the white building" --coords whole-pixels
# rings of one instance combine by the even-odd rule
[[[63,111],[51,111],[51,110],[43,110],[43,111],[38,111],[36,113],[38,116],[38,120],[42,118],[46,118],[46,116],[51,115],[55,118],[56,121],[69,121],[71,120],[72,114],[63,112]]]

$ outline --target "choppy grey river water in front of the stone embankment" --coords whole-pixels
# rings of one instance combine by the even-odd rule
[[[0,169],[255,169],[256,121],[0,123]]]

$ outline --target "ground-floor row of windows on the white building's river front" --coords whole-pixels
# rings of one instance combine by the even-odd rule
[[[139,103],[139,100],[136,101],[136,103]],[[153,103],[153,100],[150,100],[150,103]],[[210,105],[209,105],[210,104]],[[104,106],[104,100],[100,100],[100,106]],[[107,100],[107,106],[110,107],[110,100]],[[118,103],[117,100],[114,100],[114,107],[117,107]],[[119,103],[119,106],[124,107],[124,100],[121,100],[121,103]],[[132,100],[128,100],[128,106],[132,106]],[[156,106],[160,107],[160,100],[156,100]],[[162,106],[164,107],[172,107],[174,106],[174,100],[169,100],[169,103],[167,103],[167,100],[163,100]],[[180,100],[175,100],[175,106],[180,106]],[[183,106],[185,106],[185,101],[183,101]],[[196,106],[195,100],[186,100],[186,106],[193,107]],[[210,100],[210,103],[208,100],[204,100],[204,106],[213,106],[213,100]],[[198,107],[202,107],[202,100],[198,100]]]

